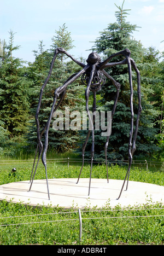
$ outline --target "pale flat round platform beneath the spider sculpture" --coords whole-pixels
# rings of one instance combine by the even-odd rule
[[[58,206],[63,208],[115,207],[116,205],[134,206],[151,202],[164,203],[164,187],[149,183],[129,181],[128,190],[122,191],[117,200],[123,181],[110,179],[92,179],[90,196],[89,179],[49,179],[50,200],[46,180],[34,180],[31,191],[29,181],[14,182],[0,186],[0,200],[21,202],[31,206]],[[126,186],[126,184],[125,184]]]

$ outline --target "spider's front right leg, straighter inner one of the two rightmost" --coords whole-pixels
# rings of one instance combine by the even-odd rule
[[[129,56],[127,56],[127,65],[128,65],[128,74],[129,74],[129,82],[130,82],[130,90],[131,90],[131,96],[130,96],[130,106],[131,106],[131,130],[130,130],[130,137],[129,137],[129,144],[128,144],[128,170],[124,179],[124,183],[122,185],[121,191],[120,191],[120,195],[118,197],[118,199],[120,198],[121,194],[122,194],[122,190],[124,188],[125,182],[126,182],[126,178],[130,175],[130,169],[131,169],[131,165],[132,165],[132,160],[133,160],[133,155],[131,152],[131,148],[132,148],[132,136],[133,136],[133,122],[134,122],[134,112],[133,112],[133,86],[132,86],[132,71],[131,71],[131,59]],[[127,180],[127,186],[128,186],[128,180]],[[127,190],[127,187],[126,187]]]

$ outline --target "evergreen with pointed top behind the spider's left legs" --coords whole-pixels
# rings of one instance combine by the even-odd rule
[[[37,143],[34,114],[36,113],[37,109],[40,88],[42,87],[44,80],[49,72],[50,63],[52,57],[54,56],[54,51],[56,47],[62,47],[67,51],[69,51],[69,49],[72,49],[73,47],[71,34],[68,33],[67,27],[65,25],[63,25],[59,28],[58,31],[56,31],[56,36],[52,38],[52,45],[50,50],[44,51],[43,42],[40,42],[39,53],[38,51],[34,51],[34,53],[36,54],[36,60],[30,67],[31,79],[33,79],[34,85],[32,88],[33,92],[31,99],[31,113],[33,115],[33,119],[31,120],[32,125],[30,132],[28,133],[29,143]],[[42,98],[42,105],[39,113],[40,127],[44,127],[46,121],[48,120],[51,105],[54,100],[55,89],[63,85],[63,83],[65,83],[66,80],[71,77],[73,73],[77,73],[79,71],[79,68],[80,67],[77,66],[73,61],[69,61],[69,59],[66,60],[65,55],[57,56],[49,83],[46,85]],[[69,107],[70,113],[73,110],[81,109],[80,103],[83,102],[83,98],[78,98],[81,87],[83,88],[83,86],[79,85],[78,81],[68,86],[65,99],[63,100],[60,108],[58,108],[59,110],[63,111],[64,117],[65,107]],[[54,120],[55,119],[52,120],[52,123]],[[62,131],[55,131],[52,128],[52,123],[49,130],[49,147],[56,152],[65,152],[69,149],[73,149],[75,147],[75,143],[78,141],[78,131],[67,131],[65,129]]]

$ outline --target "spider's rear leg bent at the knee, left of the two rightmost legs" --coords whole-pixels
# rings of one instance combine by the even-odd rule
[[[119,98],[119,92],[120,92],[121,85],[120,85],[118,82],[116,82],[116,81],[113,79],[113,77],[110,77],[110,75],[109,75],[106,71],[104,71],[103,69],[102,69],[102,72],[103,72],[103,74],[104,74],[107,78],[109,78],[109,79],[112,81],[113,85],[114,85],[115,88],[116,88],[116,95],[115,95],[114,105],[113,105],[113,109],[112,109],[112,120],[113,120],[113,116],[114,116],[114,113],[115,113],[116,105],[117,105],[117,103],[118,103],[118,98]],[[108,178],[108,164],[107,164],[107,149],[108,149],[108,144],[109,144],[109,136],[107,136],[107,141],[106,141],[106,144],[105,144],[106,168],[107,168],[107,181],[108,181],[108,183],[109,183],[109,178]]]

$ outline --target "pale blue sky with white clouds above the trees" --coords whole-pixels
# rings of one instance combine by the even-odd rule
[[[64,23],[74,40],[70,53],[76,58],[89,55],[99,32],[116,21],[115,7],[123,0],[0,0],[0,39],[8,43],[9,31],[15,34],[15,45],[21,45],[16,57],[34,61],[32,50],[38,49],[43,40],[45,50],[51,45],[55,31]],[[155,46],[164,51],[164,0],[125,0],[124,9],[130,15],[127,21],[136,24],[133,34],[145,48]]]

